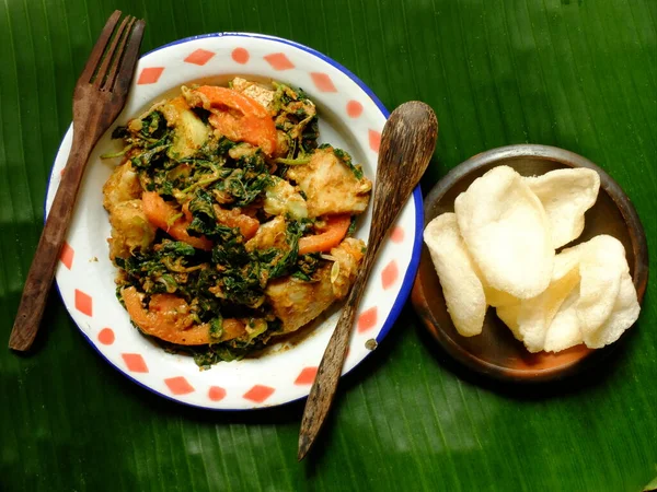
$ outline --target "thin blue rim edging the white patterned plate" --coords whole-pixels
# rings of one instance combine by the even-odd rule
[[[181,44],[185,44],[185,43],[189,43],[189,42],[194,42],[197,39],[205,39],[205,38],[222,38],[222,37],[246,37],[246,38],[254,38],[254,39],[261,39],[261,40],[267,40],[267,42],[274,42],[274,43],[279,43],[279,44],[284,44],[284,45],[288,45],[288,46],[292,46],[295,48],[298,48],[302,51],[308,52],[309,55],[314,56],[315,58],[319,58],[320,60],[322,60],[325,63],[328,63],[330,66],[334,67],[335,69],[339,70],[341,72],[343,72],[347,78],[349,78],[354,83],[356,83],[358,85],[358,87],[360,90],[362,90],[367,96],[374,103],[374,105],[377,106],[377,108],[381,112],[381,114],[383,115],[383,117],[385,119],[389,118],[390,116],[390,112],[385,108],[385,106],[383,105],[383,103],[381,102],[381,99],[379,99],[379,97],[373,93],[373,91],[365,84],[365,82],[362,82],[356,74],[354,74],[349,69],[347,69],[346,67],[344,67],[342,63],[333,60],[332,58],[327,57],[326,55],[315,50],[314,48],[308,47],[303,44],[297,43],[297,42],[292,42],[290,39],[286,39],[286,38],[281,38],[281,37],[277,37],[277,36],[272,36],[272,35],[267,35],[267,34],[260,34],[260,33],[251,33],[251,32],[218,32],[218,33],[206,33],[206,34],[199,34],[199,35],[194,35],[194,36],[187,36],[181,39],[176,39],[173,40],[171,43],[166,43],[164,45],[161,45],[157,48],[153,48],[142,55],[140,55],[139,60],[143,59],[145,57],[147,57],[150,54],[163,50],[165,48],[169,47],[173,47],[176,45],[181,45]],[[137,75],[137,73],[135,73],[135,77]],[[134,83],[134,82],[132,82]],[[57,149],[57,153],[54,160],[54,164],[53,166],[55,166],[55,163],[57,161],[57,155],[59,155],[59,153],[61,152],[64,142],[66,140],[67,133],[72,131],[72,122],[71,125],[68,127],[67,131],[65,132],[65,136],[62,137],[60,144]],[[48,179],[46,183],[46,196],[44,198],[44,224],[47,220],[48,213],[47,213],[47,209],[48,209],[48,190],[50,189],[50,181],[53,179],[53,172],[50,172],[50,174],[48,175]],[[411,199],[411,198],[410,198]],[[411,250],[411,259],[408,262],[408,268],[406,269],[406,271],[403,274],[402,278],[402,282],[399,289],[399,293],[392,304],[392,307],[390,309],[390,313],[385,319],[385,321],[382,324],[380,331],[378,332],[378,335],[376,336],[376,341],[377,343],[380,343],[383,338],[388,335],[388,332],[392,329],[392,326],[394,325],[394,323],[397,320],[399,316],[402,313],[402,309],[404,307],[404,305],[406,304],[406,301],[408,300],[411,292],[413,290],[413,284],[415,281],[415,277],[417,274],[417,270],[419,267],[419,260],[420,260],[420,253],[422,253],[422,232],[424,229],[424,200],[423,200],[423,196],[422,196],[422,189],[420,186],[417,185],[417,187],[413,190],[412,194],[412,199],[415,206],[415,219],[414,219],[414,226],[415,226],[415,237],[413,238],[413,245],[412,245],[412,250]],[[76,323],[76,320],[72,318],[72,315],[70,313],[70,311],[68,309],[68,306],[66,305],[66,303],[64,303],[64,297],[61,294],[61,291],[59,289],[59,283],[57,281],[55,281],[55,286],[57,289],[57,292],[59,294],[59,297],[62,300],[62,304],[65,305],[65,307],[67,308],[67,313],[69,315],[69,317],[72,319],[73,324],[76,325],[76,327],[78,328],[78,331],[83,336],[83,338],[89,342],[89,344],[93,348],[93,350],[95,352],[97,352],[101,358],[110,364],[110,366],[114,367],[116,371],[118,371],[120,374],[123,374],[125,377],[127,377],[130,382],[137,384],[138,386],[147,389],[148,391],[158,395],[162,398],[165,398],[166,400],[171,400],[175,403],[178,405],[183,405],[185,407],[192,407],[192,408],[198,408],[198,409],[204,409],[204,410],[209,410],[209,411],[214,411],[214,412],[243,412],[243,411],[257,411],[257,410],[264,410],[267,408],[273,408],[273,407],[284,407],[284,406],[288,406],[291,403],[295,403],[297,401],[301,401],[304,400],[306,398],[308,398],[308,395],[304,396],[300,396],[298,398],[293,398],[290,399],[288,401],[281,402],[281,403],[276,403],[273,406],[261,406],[261,407],[249,407],[249,408],[214,408],[214,407],[207,407],[207,406],[203,406],[203,405],[196,405],[189,401],[183,401],[181,399],[174,398],[173,396],[166,395],[162,391],[159,391],[158,389],[139,382],[137,378],[135,378],[134,376],[130,375],[130,373],[128,371],[125,371],[123,367],[119,367],[118,365],[116,365],[115,363],[113,363],[102,351],[101,349],[91,340],[90,336],[84,332]],[[351,371],[354,371],[358,365],[360,365],[367,358],[369,358],[369,355],[372,353],[373,351],[369,351],[365,354],[365,356],[358,361],[351,368],[349,368],[348,371],[346,371],[345,373],[343,373],[341,375],[341,377],[347,375],[348,373],[350,373]],[[309,389],[310,393],[310,389]]]

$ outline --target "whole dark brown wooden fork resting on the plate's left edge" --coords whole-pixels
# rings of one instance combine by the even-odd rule
[[[9,338],[13,350],[30,349],[36,337],[87,161],[126,104],[146,23],[128,15],[119,24],[120,16],[117,10],[107,20],[76,84],[73,143],[27,272]]]

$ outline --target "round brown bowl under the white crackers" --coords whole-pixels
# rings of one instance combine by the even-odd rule
[[[638,215],[621,187],[604,171],[587,159],[563,149],[546,145],[509,145],[494,149],[465,161],[442,178],[428,195],[424,211],[425,226],[437,215],[454,211],[454,199],[474,179],[491,168],[507,165],[523,176],[548,173],[564,167],[589,167],[600,175],[600,192],[596,204],[586,212],[586,227],[574,244],[598,234],[616,237],[625,247],[630,272],[643,301],[648,279],[648,248]],[[592,350],[573,347],[558,353],[530,353],[489,308],[483,332],[460,336],[447,312],[442,289],[426,245],[412,292],[413,305],[429,332],[442,348],[471,370],[498,379],[514,382],[550,380],[566,376],[599,360],[611,348]]]

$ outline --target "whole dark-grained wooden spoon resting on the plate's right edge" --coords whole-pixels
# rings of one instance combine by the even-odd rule
[[[299,460],[307,455],[328,414],[356,311],[379,247],[426,171],[437,136],[438,121],[434,110],[418,101],[402,104],[392,112],[383,127],[367,254],[306,402],[299,433]]]

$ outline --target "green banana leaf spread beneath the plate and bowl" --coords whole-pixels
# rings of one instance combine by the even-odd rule
[[[392,109],[440,121],[424,192],[469,156],[557,145],[601,165],[657,265],[655,0],[2,0],[0,309],[7,340],[43,224],[78,74],[113,10],[147,21],[142,51],[246,31],[311,46]],[[302,403],[183,407],[130,383],[83,340],[54,290],[32,353],[0,349],[2,491],[638,492],[657,477],[657,292],[600,365],[540,387],[460,368],[407,305],[343,379],[314,453]]]

